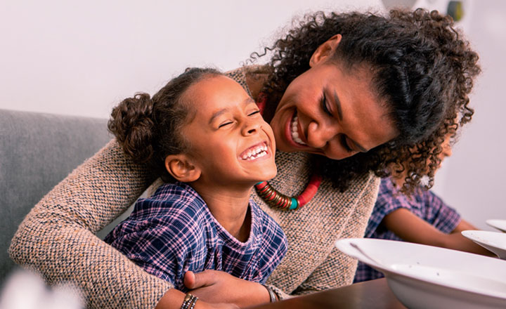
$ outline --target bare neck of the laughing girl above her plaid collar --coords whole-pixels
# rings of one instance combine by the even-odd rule
[[[198,183],[190,185],[204,199],[216,221],[240,242],[246,242],[252,222],[248,207],[252,186],[231,190],[230,186],[209,188]]]

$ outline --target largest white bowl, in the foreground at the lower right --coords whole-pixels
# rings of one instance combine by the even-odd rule
[[[506,261],[498,258],[385,239],[336,246],[383,272],[408,308],[506,308]]]

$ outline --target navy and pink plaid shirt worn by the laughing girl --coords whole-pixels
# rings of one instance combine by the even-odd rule
[[[187,291],[183,276],[188,270],[222,270],[264,283],[285,256],[287,239],[253,200],[249,210],[249,239],[240,242],[216,221],[193,188],[165,184],[153,197],[139,199],[129,218],[104,240],[181,291]]]

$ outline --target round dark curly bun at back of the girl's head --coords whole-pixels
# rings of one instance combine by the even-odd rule
[[[148,162],[153,156],[153,104],[148,93],[137,93],[119,103],[108,122],[109,131],[126,155],[138,163]]]

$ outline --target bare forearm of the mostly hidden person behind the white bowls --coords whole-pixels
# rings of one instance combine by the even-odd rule
[[[440,246],[474,254],[493,256],[491,251],[488,251],[479,244],[475,244],[472,240],[460,234],[462,230],[476,230],[474,226],[463,220],[457,225],[453,232],[446,234],[434,228],[434,226],[416,216],[408,209],[400,208],[385,216],[382,225],[384,225],[387,230],[394,232],[398,237],[406,240],[406,242],[428,244],[430,246]]]

